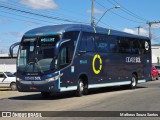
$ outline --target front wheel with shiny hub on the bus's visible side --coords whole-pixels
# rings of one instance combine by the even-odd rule
[[[76,96],[81,97],[84,94],[85,86],[81,79],[78,81]]]

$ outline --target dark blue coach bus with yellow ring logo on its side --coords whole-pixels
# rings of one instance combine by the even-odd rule
[[[16,84],[20,92],[44,97],[63,91],[82,96],[108,86],[133,89],[151,79],[151,63],[148,37],[81,24],[44,26],[22,37]]]

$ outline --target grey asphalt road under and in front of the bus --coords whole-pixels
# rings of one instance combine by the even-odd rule
[[[0,111],[160,111],[160,80],[138,84],[138,88],[134,90],[123,87],[92,89],[89,95],[83,97],[75,97],[73,92],[65,92],[44,99],[39,93],[0,91]],[[123,120],[159,118],[124,117]]]

